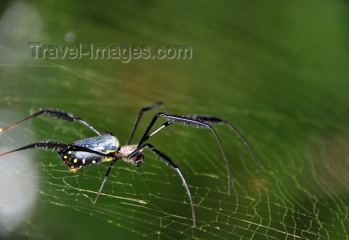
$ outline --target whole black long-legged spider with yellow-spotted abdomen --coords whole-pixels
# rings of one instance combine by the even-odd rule
[[[141,117],[144,112],[151,111],[154,109],[157,109],[159,107],[163,107],[166,113],[157,113],[153,119],[150,121],[147,129],[145,130],[143,136],[141,139],[138,141],[137,144],[130,144],[132,137],[135,133],[135,130],[138,126],[138,123],[141,120]],[[254,163],[256,165],[256,168],[258,170],[258,164],[257,160],[255,157],[255,154],[251,148],[251,146],[248,144],[246,139],[240,134],[240,132],[228,121],[214,117],[214,116],[199,116],[199,115],[193,115],[193,116],[184,116],[184,115],[169,115],[169,112],[167,111],[166,107],[164,106],[163,103],[161,102],[156,102],[148,106],[147,108],[141,109],[139,112],[136,121],[133,125],[133,128],[131,130],[129,139],[127,140],[126,145],[120,146],[118,139],[111,133],[111,132],[102,132],[100,133],[97,131],[92,125],[90,125],[87,121],[82,120],[80,118],[74,117],[70,113],[66,113],[61,110],[54,110],[54,109],[45,109],[45,110],[39,110],[38,112],[34,113],[33,115],[29,116],[28,118],[18,121],[17,123],[14,123],[13,125],[10,125],[4,129],[0,128],[0,132],[4,132],[19,123],[22,123],[24,121],[39,117],[40,115],[47,115],[52,118],[57,118],[60,120],[65,120],[69,122],[74,122],[78,121],[88,128],[90,128],[92,131],[94,131],[97,136],[93,136],[87,139],[82,139],[78,141],[73,141],[70,143],[62,143],[59,141],[51,141],[51,140],[46,140],[46,141],[40,141],[36,143],[30,143],[28,145],[25,145],[23,147],[20,147],[18,149],[5,152],[0,154],[0,156],[6,155],[8,153],[12,153],[15,151],[19,150],[24,150],[28,148],[41,148],[45,150],[56,150],[58,153],[59,158],[63,161],[63,163],[69,168],[70,171],[76,172],[79,169],[89,166],[89,165],[97,165],[105,161],[111,161],[110,166],[107,170],[107,173],[104,176],[104,179],[102,181],[101,187],[99,188],[99,191],[96,195],[96,198],[93,201],[93,204],[96,203],[99,195],[102,192],[103,186],[105,182],[107,181],[108,175],[110,173],[111,168],[113,167],[115,161],[122,159],[126,162],[130,162],[134,164],[136,167],[142,166],[144,162],[144,150],[146,148],[149,148],[156,156],[158,156],[162,161],[164,161],[167,165],[170,165],[179,175],[184,188],[186,190],[186,194],[188,195],[190,206],[191,206],[191,215],[192,215],[192,222],[193,226],[196,226],[196,221],[195,221],[195,211],[194,211],[194,204],[193,200],[191,198],[190,190],[185,182],[185,179],[180,172],[179,168],[177,165],[174,163],[174,161],[167,156],[166,154],[162,153],[161,151],[157,150],[154,148],[152,144],[149,143],[144,143],[146,140],[154,136],[156,133],[164,129],[165,127],[169,126],[171,123],[179,123],[187,126],[193,126],[193,127],[198,127],[198,128],[208,128],[210,129],[218,144],[220,147],[220,150],[222,151],[224,160],[225,160],[225,165],[227,169],[227,179],[228,179],[228,195],[230,195],[230,173],[229,173],[229,165],[228,161],[225,155],[225,152],[223,150],[223,146],[218,138],[218,135],[214,128],[212,127],[211,124],[226,124],[228,125],[245,143],[245,145],[248,147],[252,158],[254,160]],[[166,122],[162,125],[160,125],[157,129],[152,131],[151,133],[150,130],[153,127],[154,123],[156,120],[162,117],[166,120]]]

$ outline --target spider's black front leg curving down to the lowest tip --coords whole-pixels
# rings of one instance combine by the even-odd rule
[[[185,182],[185,179],[182,175],[182,173],[180,172],[179,168],[177,167],[177,165],[174,164],[174,162],[171,160],[171,158],[169,156],[167,156],[165,153],[162,153],[161,151],[157,150],[154,148],[153,145],[147,143],[147,144],[144,144],[143,146],[137,148],[135,151],[133,151],[130,155],[127,156],[128,159],[131,159],[131,157],[133,155],[135,155],[137,152],[139,151],[142,151],[143,149],[145,148],[149,148],[150,150],[153,151],[153,153],[155,155],[157,155],[161,160],[163,160],[163,162],[165,162],[167,165],[170,165],[174,170],[177,171],[179,177],[181,178],[182,182],[183,182],[183,185],[185,187],[185,190],[186,190],[186,194],[188,195],[189,197],[189,201],[190,201],[190,206],[191,206],[191,215],[192,215],[192,222],[193,222],[193,226],[195,227],[196,226],[196,221],[195,221],[195,211],[194,211],[194,204],[193,204],[193,201],[192,201],[192,198],[191,198],[191,194],[190,194],[190,190],[188,188],[188,185],[186,184]]]

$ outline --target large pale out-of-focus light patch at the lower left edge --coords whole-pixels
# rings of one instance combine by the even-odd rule
[[[10,110],[0,110],[0,116],[1,128],[25,118]],[[0,133],[0,153],[33,140],[30,131],[23,131],[19,126],[11,128]],[[38,182],[30,151],[18,151],[0,157],[0,182],[0,236],[5,236],[25,223],[35,203]]]

